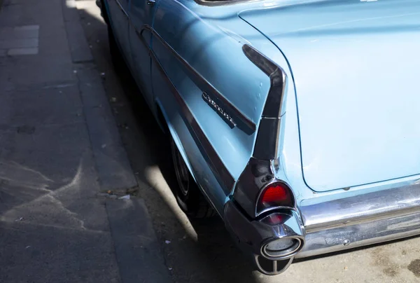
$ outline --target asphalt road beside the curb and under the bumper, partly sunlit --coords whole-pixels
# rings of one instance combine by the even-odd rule
[[[174,178],[167,137],[127,70],[117,74],[113,67],[99,8],[93,0],[77,6],[140,184],[137,194],[146,201],[174,282],[420,282],[419,237],[298,261],[282,275],[267,277],[244,260],[221,219],[186,218],[168,186]]]

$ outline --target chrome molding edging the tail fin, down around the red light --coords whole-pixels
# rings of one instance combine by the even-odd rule
[[[253,156],[239,177],[234,192],[234,199],[246,213],[256,217],[262,213],[256,212],[262,188],[273,181],[278,181],[274,177],[273,167],[279,157],[280,122],[283,115],[283,101],[286,98],[286,74],[281,67],[255,48],[245,44],[242,50],[246,57],[270,78],[270,88],[262,110]],[[270,207],[264,212],[281,208]]]

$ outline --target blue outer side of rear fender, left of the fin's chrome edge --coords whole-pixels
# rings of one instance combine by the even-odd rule
[[[203,10],[206,13],[202,13]],[[242,52],[241,48],[247,41],[232,32],[228,26],[235,26],[243,32],[248,31],[261,39],[263,37],[235,14],[224,18],[223,15],[218,16],[217,13],[212,13],[217,10],[218,8],[200,6],[194,1],[159,1],[153,28],[177,54],[188,62],[190,67],[218,90],[248,120],[258,125],[269,89],[269,78]],[[229,11],[229,8],[225,7],[223,10],[219,8],[218,11],[219,13]],[[210,18],[210,15],[213,18]],[[202,92],[206,88],[190,76],[188,69],[155,38],[153,38],[152,48],[167,72],[167,76],[211,142],[218,158],[232,175],[232,180],[236,181],[251,156],[255,130],[241,125],[240,120],[236,120],[232,112],[229,114],[234,117],[237,127],[230,127],[204,101]],[[159,74],[153,71],[152,76],[159,76]],[[220,182],[209,182],[212,179],[211,169],[206,163],[198,161],[206,153],[200,152],[196,146],[190,144],[190,134],[185,131],[188,125],[185,120],[178,117],[179,114],[176,112],[179,111],[174,111],[177,104],[169,103],[170,98],[165,97],[168,90],[165,90],[165,85],[158,83],[160,79],[154,78],[154,81],[155,97],[164,106],[165,111],[172,112],[168,118],[169,123],[172,123],[174,127],[174,132],[179,139],[179,147],[183,149],[189,160],[197,182],[204,184],[206,186],[204,191],[220,202],[218,207],[223,207],[226,196],[232,191],[232,186],[223,186]]]

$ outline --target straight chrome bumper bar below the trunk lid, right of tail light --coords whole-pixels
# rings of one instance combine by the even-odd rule
[[[306,244],[296,257],[396,240],[420,233],[420,182],[363,195],[303,200]],[[330,197],[331,198],[331,197]]]

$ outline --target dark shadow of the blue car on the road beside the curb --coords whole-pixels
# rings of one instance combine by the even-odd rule
[[[80,16],[139,182],[137,195],[146,202],[174,281],[258,282],[258,273],[237,249],[218,216],[190,221],[181,212],[170,190],[175,176],[169,138],[125,64],[112,62],[104,22],[87,11],[80,10]]]

